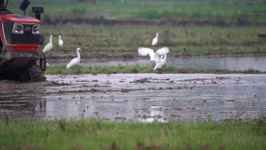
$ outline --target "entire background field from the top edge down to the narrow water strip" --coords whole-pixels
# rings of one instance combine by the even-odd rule
[[[11,0],[10,10],[20,0]],[[70,0],[32,0],[31,6],[45,7],[41,32],[45,42],[54,35],[53,55],[72,58],[83,49],[83,58],[134,58],[139,46],[170,47],[170,56],[235,55],[266,53],[266,0],[98,0],[97,3]],[[28,9],[28,15],[32,15]],[[57,46],[62,35],[64,46]],[[42,49],[43,46],[40,48]],[[61,55],[61,54],[64,55]]]

